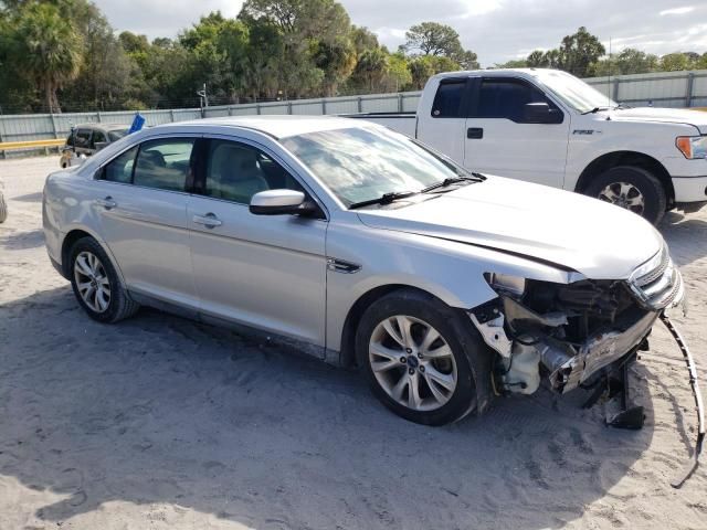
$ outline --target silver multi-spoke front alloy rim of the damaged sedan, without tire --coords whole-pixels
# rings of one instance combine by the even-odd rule
[[[378,324],[369,341],[369,363],[378,384],[413,411],[446,404],[457,384],[452,348],[428,322],[395,315]]]

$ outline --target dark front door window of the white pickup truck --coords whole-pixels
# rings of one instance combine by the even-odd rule
[[[525,121],[525,106],[528,103],[547,103],[557,106],[535,86],[518,80],[483,80],[478,92],[478,106],[474,118],[506,118],[516,123]]]

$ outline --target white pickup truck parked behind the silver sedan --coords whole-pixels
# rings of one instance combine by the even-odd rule
[[[362,114],[482,173],[573,190],[657,224],[707,203],[707,113],[630,108],[555,70],[450,72],[416,114]]]

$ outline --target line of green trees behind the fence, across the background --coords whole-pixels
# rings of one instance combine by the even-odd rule
[[[606,50],[585,28],[555,50],[496,67],[555,67],[580,77],[707,68],[707,53],[658,57]],[[421,89],[439,72],[478,68],[450,25],[422,22],[390,51],[336,0],[246,0],[175,39],[116,34],[89,0],[0,0],[0,113],[194,107]]]

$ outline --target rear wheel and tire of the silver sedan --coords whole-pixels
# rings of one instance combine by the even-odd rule
[[[137,312],[140,306],[130,299],[108,255],[96,240],[82,237],[74,243],[68,256],[71,286],[91,318],[114,324]]]

